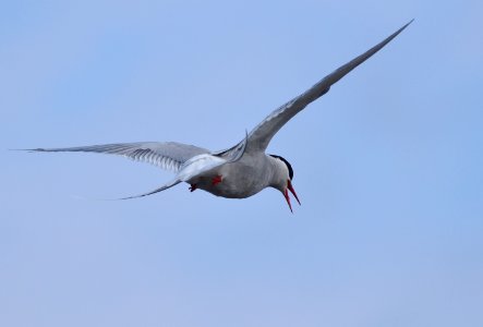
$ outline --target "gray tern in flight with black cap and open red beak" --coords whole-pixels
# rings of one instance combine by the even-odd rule
[[[24,150],[119,155],[174,172],[174,178],[154,191],[119,199],[152,195],[181,182],[189,183],[191,192],[204,190],[227,198],[246,198],[266,187],[273,187],[282,193],[290,211],[293,213],[289,192],[299,205],[301,204],[292,184],[293,168],[283,157],[266,154],[271,138],[291,118],[325,95],[334,84],[379,51],[412,22],[413,20],[274,110],[250,133],[245,132],[242,141],[228,149],[212,152],[178,142],[136,142]]]

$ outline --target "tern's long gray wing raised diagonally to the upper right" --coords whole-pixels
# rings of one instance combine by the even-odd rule
[[[299,95],[298,97],[291,99],[283,106],[273,111],[250,133],[246,152],[264,152],[267,148],[271,137],[274,137],[274,135],[281,129],[281,126],[283,126],[285,123],[287,123],[293,116],[299,113],[309,104],[326,94],[331,85],[346,76],[350,71],[363,63],[378,50],[381,50],[411,23],[412,21],[396,31],[378,45],[374,46],[366,52],[341,65],[340,68],[322,78],[303,94]]]

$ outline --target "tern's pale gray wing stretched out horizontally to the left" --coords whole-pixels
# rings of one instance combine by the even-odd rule
[[[174,172],[178,171],[190,158],[209,153],[209,150],[194,145],[176,142],[118,143],[60,148],[34,148],[28,150],[44,153],[70,152],[118,155],[136,161],[148,162]]]

